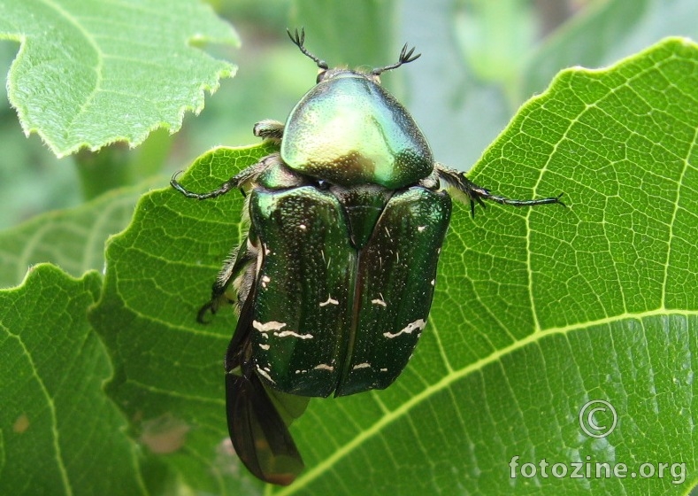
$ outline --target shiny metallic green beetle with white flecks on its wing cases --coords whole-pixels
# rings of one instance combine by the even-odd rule
[[[224,363],[228,430],[247,468],[273,484],[303,469],[287,427],[293,398],[383,389],[410,360],[432,304],[449,189],[467,196],[472,214],[483,199],[562,203],[498,197],[434,162],[380,86],[381,73],[419,57],[414,49],[364,73],[329,69],[305,49],[303,30],[288,35],[319,73],[285,125],[255,125],[280,152],[208,193],[172,180],[188,198],[249,191],[249,234],[198,320],[228,302],[240,312]]]

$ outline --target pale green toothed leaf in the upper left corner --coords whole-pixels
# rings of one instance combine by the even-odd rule
[[[235,45],[237,35],[200,2],[163,7],[154,0],[0,4],[0,38],[21,43],[7,87],[25,133],[63,156],[82,146],[136,145],[155,128],[178,130],[184,112],[200,112],[204,90],[217,89],[234,66],[191,45]]]

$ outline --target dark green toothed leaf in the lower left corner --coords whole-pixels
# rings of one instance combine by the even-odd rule
[[[111,362],[87,321],[101,277],[35,267],[0,291],[0,493],[143,494]]]

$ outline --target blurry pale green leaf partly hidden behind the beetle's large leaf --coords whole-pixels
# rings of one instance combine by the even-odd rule
[[[85,205],[45,213],[0,232],[0,287],[21,283],[27,269],[41,262],[74,277],[102,270],[107,237],[128,225],[136,201],[156,183],[165,179],[112,190]]]

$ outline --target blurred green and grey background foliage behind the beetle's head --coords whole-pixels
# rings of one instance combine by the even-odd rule
[[[560,69],[598,67],[666,35],[698,38],[694,0],[211,0],[242,37],[240,50],[202,47],[239,66],[188,113],[180,132],[157,131],[135,150],[111,146],[56,159],[38,136],[22,134],[0,102],[0,229],[38,213],[80,205],[105,190],[186,168],[219,144],[256,143],[257,120],[284,120],[314,82],[316,68],[288,42],[305,27],[306,45],[330,66],[383,66],[403,43],[422,57],[383,82],[412,112],[436,159],[467,170],[527,98]],[[9,69],[17,43],[0,43]]]

